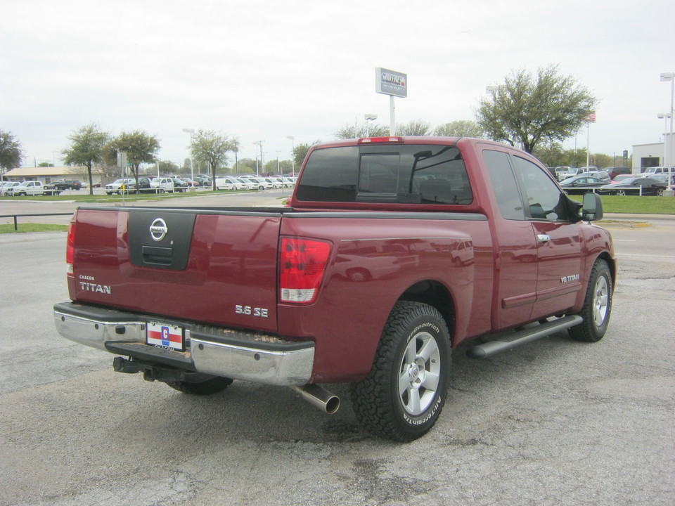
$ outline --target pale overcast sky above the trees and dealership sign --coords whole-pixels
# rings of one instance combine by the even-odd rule
[[[288,160],[288,136],[329,141],[365,113],[388,126],[375,67],[408,74],[397,124],[437,126],[475,119],[510,72],[558,65],[600,100],[591,153],[620,156],[662,140],[675,72],[673,0],[4,0],[2,18],[0,129],[24,165],[60,164],[92,122],[155,135],[177,164],[184,128]]]

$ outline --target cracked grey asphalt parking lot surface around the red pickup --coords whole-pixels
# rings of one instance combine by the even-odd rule
[[[439,422],[408,444],[363,432],[345,385],[330,416],[281,387],[194,397],[113,372],[54,329],[65,233],[0,235],[0,505],[673,505],[675,221],[650,221],[608,226],[602,341],[460,346]]]

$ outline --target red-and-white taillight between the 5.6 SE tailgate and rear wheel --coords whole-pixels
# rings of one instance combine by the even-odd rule
[[[282,238],[279,252],[281,301],[304,304],[314,302],[329,256],[328,242]]]

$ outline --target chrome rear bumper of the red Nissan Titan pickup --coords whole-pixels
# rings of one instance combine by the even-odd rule
[[[233,380],[288,386],[306,384],[311,378],[314,342],[291,342],[167,318],[167,323],[185,329],[186,351],[174,351],[145,344],[146,325],[156,320],[155,316],[72,302],[54,306],[59,334],[86,346],[117,354],[123,349],[124,354],[139,360]]]

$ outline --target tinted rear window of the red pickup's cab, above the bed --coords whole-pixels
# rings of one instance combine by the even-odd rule
[[[473,202],[461,153],[444,145],[315,150],[296,195],[299,200],[319,202]]]

